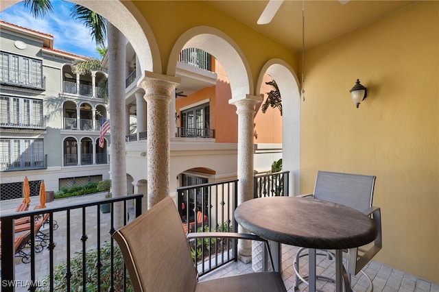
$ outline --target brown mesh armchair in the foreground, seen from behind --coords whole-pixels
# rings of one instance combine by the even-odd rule
[[[191,233],[191,239],[195,235]],[[188,239],[171,197],[112,236],[121,248],[134,291],[286,291],[281,274],[272,271],[198,282]],[[202,232],[200,236],[265,241],[252,234],[230,232]]]

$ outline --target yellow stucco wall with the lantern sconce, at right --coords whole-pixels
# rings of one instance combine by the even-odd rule
[[[355,108],[359,78],[368,97]],[[301,191],[318,170],[377,175],[375,260],[439,282],[439,1],[421,1],[305,53]]]

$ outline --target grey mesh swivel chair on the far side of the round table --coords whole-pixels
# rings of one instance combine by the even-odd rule
[[[375,175],[318,171],[313,194],[303,195],[304,197],[312,196],[314,199],[322,199],[357,209],[375,221],[378,230],[375,241],[364,247],[345,250],[343,253],[346,259],[346,271],[348,273],[346,277],[348,277],[349,282],[351,282],[351,275],[357,275],[375,254],[381,250],[381,210],[378,207],[372,206],[375,178]],[[317,252],[317,254],[331,258],[331,251]],[[302,276],[299,272],[299,260],[303,256],[307,256],[307,249],[300,248],[294,260],[296,289],[298,289],[300,282],[307,283],[307,276]],[[364,275],[368,278],[370,291],[373,291],[372,281],[366,273],[364,273]],[[318,276],[317,278],[332,280],[324,276]]]

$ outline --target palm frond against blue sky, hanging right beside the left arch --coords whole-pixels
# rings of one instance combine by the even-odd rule
[[[106,19],[104,17],[78,4],[73,5],[70,16],[84,23],[90,29],[90,34],[96,44],[104,47],[106,42]]]

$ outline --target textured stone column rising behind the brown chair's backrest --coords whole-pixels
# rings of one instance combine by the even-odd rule
[[[145,71],[137,86],[147,103],[147,195],[151,208],[169,195],[169,103],[180,78]]]

